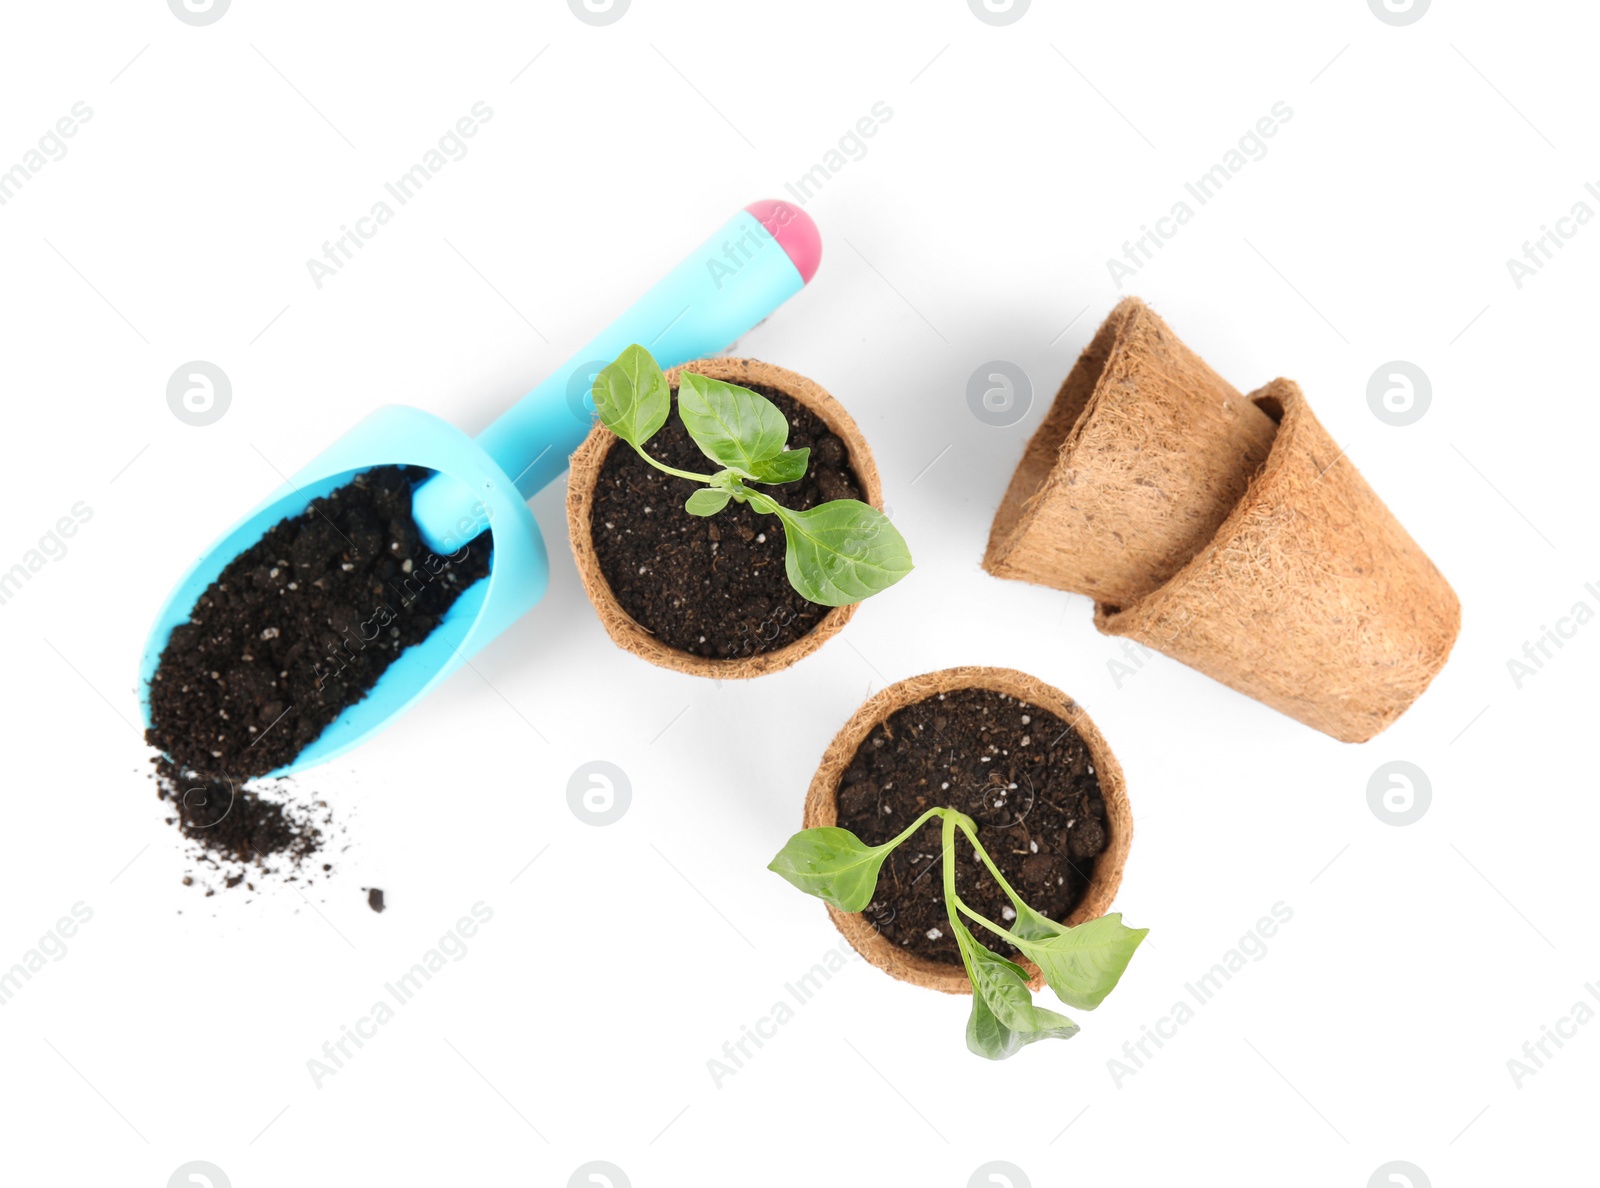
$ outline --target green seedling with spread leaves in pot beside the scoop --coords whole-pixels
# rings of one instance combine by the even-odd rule
[[[658,471],[701,484],[683,508],[715,516],[730,503],[747,503],[776,516],[784,528],[784,568],[802,597],[824,607],[861,602],[910,573],[910,549],[890,517],[859,500],[834,500],[790,511],[762,487],[805,477],[811,450],[789,448],[789,421],[771,400],[749,387],[683,371],[678,416],[690,437],[720,468],[715,474],[680,471],[645,453],[672,411],[672,391],[651,354],[630,346],[594,384],[600,423],[634,447]]]

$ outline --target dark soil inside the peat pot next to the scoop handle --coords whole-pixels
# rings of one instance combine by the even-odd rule
[[[843,440],[798,400],[763,384],[750,389],[789,419],[789,447],[811,450],[798,482],[762,490],[794,511],[859,500],[861,480]],[[667,466],[712,474],[718,468],[678,419],[677,397],[674,389],[672,415],[645,448]],[[683,501],[693,492],[694,484],[662,474],[624,443],[606,455],[589,527],[622,610],[662,644],[714,660],[776,652],[811,631],[829,608],[789,584],[778,517],[738,503],[715,516],[690,516]]]

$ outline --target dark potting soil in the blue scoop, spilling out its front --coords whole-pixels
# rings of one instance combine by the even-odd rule
[[[173,629],[146,741],[174,825],[213,858],[299,865],[318,849],[320,802],[248,781],[315,741],[488,573],[488,533],[450,557],[422,544],[411,488],[426,474],[371,469],[278,522]]]

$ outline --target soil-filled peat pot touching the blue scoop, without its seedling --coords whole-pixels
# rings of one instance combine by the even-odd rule
[[[790,447],[811,448],[805,477],[773,488],[786,506],[861,500],[883,508],[866,439],[819,384],[755,359],[701,359],[667,371],[674,410],[682,371],[749,387],[779,407]],[[704,469],[677,415],[648,448],[669,466]],[[755,677],[816,652],[856,613],[854,605],[808,602],[789,584],[774,516],[749,504],[691,516],[683,501],[693,485],[648,466],[603,424],[590,429],[571,468],[566,527],[578,575],[618,647],[678,672]]]

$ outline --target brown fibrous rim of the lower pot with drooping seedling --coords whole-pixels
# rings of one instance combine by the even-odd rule
[[[898,709],[926,701],[939,693],[950,693],[958,688],[987,688],[995,693],[1006,693],[1019,701],[1038,706],[1067,722],[1083,740],[1093,756],[1094,772],[1099,778],[1099,791],[1106,801],[1106,849],[1094,858],[1094,871],[1083,898],[1066,921],[1067,925],[1078,925],[1085,921],[1104,916],[1117,897],[1122,885],[1122,873],[1128,863],[1128,847],[1133,844],[1133,809],[1128,804],[1128,786],[1122,773],[1117,756],[1101,735],[1099,728],[1070,696],[1043,680],[1019,672],[1014,668],[962,666],[946,668],[938,672],[899,680],[888,688],[870,696],[851,716],[848,722],[829,743],[822,754],[822,762],[811,777],[806,789],[803,828],[829,826],[838,823],[838,785],[845,770],[854,759],[856,751],[867,735],[894,714]],[[862,913],[843,913],[827,908],[829,917],[845,935],[845,940],[890,977],[910,981],[928,989],[939,989],[946,994],[971,994],[973,986],[966,978],[966,970],[942,961],[931,961],[910,953],[872,927]],[[1027,970],[1029,985],[1037,991],[1045,985],[1043,977],[1030,961],[1021,954],[1016,962]]]

